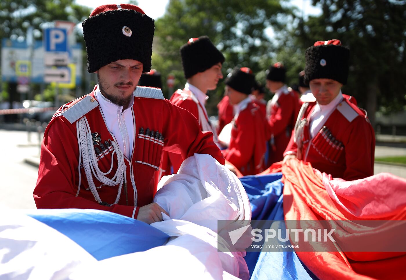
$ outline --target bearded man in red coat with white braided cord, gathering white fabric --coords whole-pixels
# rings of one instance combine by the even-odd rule
[[[210,154],[224,164],[211,132],[160,89],[137,87],[151,69],[154,21],[132,4],[97,7],[82,23],[88,71],[98,85],[58,109],[41,146],[37,208],[94,208],[152,223],[162,150]],[[101,37],[101,35],[103,37]],[[112,43],[114,42],[114,44]]]

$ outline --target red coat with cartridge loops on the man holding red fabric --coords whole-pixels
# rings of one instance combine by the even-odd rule
[[[356,101],[343,96],[313,138],[309,117],[316,102],[304,102],[306,107],[284,155],[295,154],[315,169],[347,181],[366,178],[374,174],[374,129],[365,112],[354,105]]]

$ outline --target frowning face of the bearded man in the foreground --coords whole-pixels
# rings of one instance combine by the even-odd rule
[[[122,59],[109,63],[96,71],[103,96],[118,106],[130,102],[138,80],[143,74],[143,63]]]

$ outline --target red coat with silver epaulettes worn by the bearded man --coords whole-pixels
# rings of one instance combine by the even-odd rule
[[[225,163],[220,150],[213,142],[213,134],[201,132],[196,118],[164,99],[162,92],[158,98],[148,95],[134,98],[132,107],[134,148],[131,158],[124,158],[127,187],[122,188],[119,202],[113,204],[118,186],[106,186],[93,175],[102,202],[113,204],[110,207],[99,205],[88,190],[89,183],[83,165],[80,168],[80,176],[78,172],[79,148],[76,130],[78,119],[86,117],[92,134],[97,132],[99,141],[93,142],[94,144],[115,141],[92,92],[60,107],[45,130],[38,180],[34,190],[37,208],[93,208],[136,218],[139,207],[153,201],[157,187],[155,176],[158,176],[157,169],[162,150],[177,151],[182,158],[192,156],[194,153],[210,154],[220,163]],[[93,106],[91,107],[93,109],[90,111],[83,109],[89,106]],[[64,112],[67,114],[64,115]],[[67,117],[68,115],[70,117]],[[159,144],[160,141],[148,141],[146,135],[141,133],[141,128],[144,133],[147,128],[159,131],[162,134],[163,145]],[[109,149],[111,148],[110,146]],[[103,172],[106,172],[113,161],[113,169],[106,175],[111,178],[117,170],[117,156],[112,157],[114,151],[109,149],[108,152],[107,150],[103,152],[103,156],[98,157],[97,164]],[[80,189],[78,189],[79,178]]]

